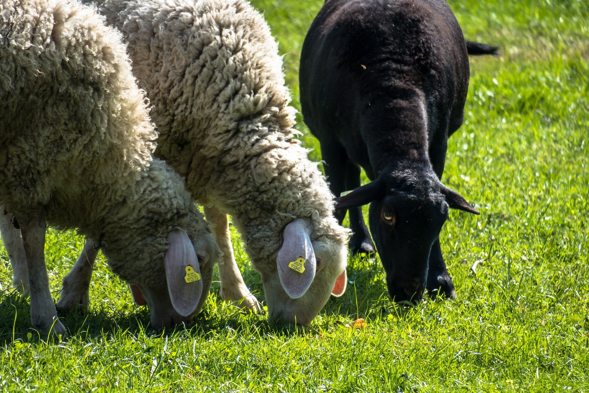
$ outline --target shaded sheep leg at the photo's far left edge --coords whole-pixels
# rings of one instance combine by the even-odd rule
[[[12,265],[12,286],[24,296],[29,295],[29,270],[27,269],[27,255],[22,245],[21,230],[13,223],[14,216],[6,212],[0,203],[0,235]]]

